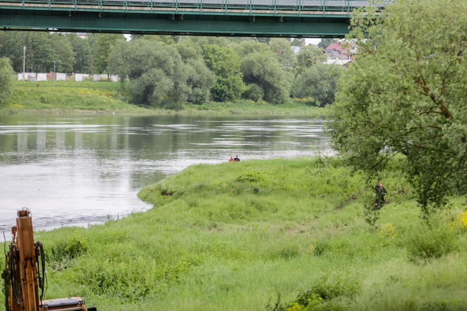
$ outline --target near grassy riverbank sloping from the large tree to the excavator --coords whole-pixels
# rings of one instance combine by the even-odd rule
[[[372,188],[339,159],[189,167],[140,191],[148,212],[36,233],[47,297],[98,310],[465,310],[466,198],[429,229],[400,168],[388,171],[373,228]]]

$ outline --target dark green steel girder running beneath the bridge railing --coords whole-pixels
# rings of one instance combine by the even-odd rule
[[[4,30],[258,37],[342,37],[347,16],[298,17],[0,9]]]

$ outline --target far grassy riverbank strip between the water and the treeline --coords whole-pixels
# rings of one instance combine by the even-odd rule
[[[39,83],[39,87],[37,84]],[[22,112],[78,112],[118,114],[244,114],[328,116],[329,109],[311,107],[301,101],[273,105],[239,100],[234,103],[210,102],[204,105],[185,105],[182,110],[148,108],[129,104],[128,93],[116,82],[15,81],[13,93],[0,113]]]

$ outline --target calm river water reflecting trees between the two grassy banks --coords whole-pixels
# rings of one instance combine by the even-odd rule
[[[0,116],[0,231],[16,210],[36,230],[150,208],[137,192],[189,165],[332,154],[323,120],[245,116]]]

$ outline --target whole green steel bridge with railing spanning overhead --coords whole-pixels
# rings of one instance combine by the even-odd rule
[[[0,0],[3,30],[342,37],[368,0]]]

